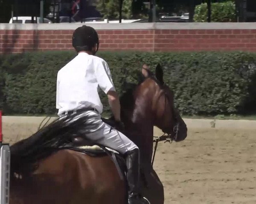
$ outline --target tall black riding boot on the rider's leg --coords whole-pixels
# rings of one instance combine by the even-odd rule
[[[128,203],[144,204],[145,201],[140,196],[140,151],[134,149],[126,153],[127,181],[128,181]]]

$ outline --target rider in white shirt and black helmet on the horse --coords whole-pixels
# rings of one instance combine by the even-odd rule
[[[116,124],[123,127],[119,96],[113,85],[110,69],[104,59],[95,56],[99,48],[98,34],[90,26],[81,26],[73,32],[72,44],[78,54],[57,75],[58,116],[68,116],[70,113],[79,114],[80,117],[90,116],[93,128],[84,136],[125,156],[128,169],[128,203],[143,204],[144,200],[139,192],[139,148],[101,119],[103,105],[98,86],[108,96]]]

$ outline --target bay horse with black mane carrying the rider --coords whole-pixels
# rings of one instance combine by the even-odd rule
[[[186,138],[187,128],[161,66],[155,74],[143,68],[142,74],[143,80],[120,97],[121,118],[126,136],[140,148],[143,196],[163,204],[163,184],[151,166],[153,128],[176,142]],[[127,185],[111,156],[71,148],[72,139],[92,127],[89,121],[76,114],[61,117],[10,147],[10,204],[127,204]]]

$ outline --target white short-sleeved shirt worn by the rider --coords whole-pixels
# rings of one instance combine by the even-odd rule
[[[103,105],[98,87],[105,92],[115,91],[111,72],[105,60],[80,52],[58,71],[56,108],[58,115],[79,108],[96,108],[102,113]]]

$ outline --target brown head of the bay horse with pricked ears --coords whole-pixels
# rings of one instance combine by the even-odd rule
[[[144,114],[146,119],[151,119],[152,125],[160,128],[170,139],[175,142],[184,140],[187,127],[174,107],[174,93],[164,82],[161,65],[157,65],[155,74],[143,65],[142,74],[144,80],[135,91],[137,109],[134,109],[134,119]]]

